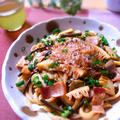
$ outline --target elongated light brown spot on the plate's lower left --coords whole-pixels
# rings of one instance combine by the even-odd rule
[[[30,110],[30,108],[29,108],[28,106],[23,106],[23,107],[21,108],[21,111],[24,112],[26,115],[32,116],[32,117],[38,115],[37,111],[32,111],[32,110]]]

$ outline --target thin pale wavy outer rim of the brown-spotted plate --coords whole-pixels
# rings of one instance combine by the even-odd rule
[[[33,25],[32,27],[26,29],[25,31],[23,31],[19,36],[18,38],[11,44],[11,46],[9,47],[9,49],[7,50],[7,53],[5,55],[5,58],[4,58],[4,62],[3,62],[3,65],[2,65],[2,79],[1,79],[1,86],[2,86],[2,91],[4,93],[4,96],[7,100],[7,102],[9,103],[10,107],[12,108],[12,110],[14,111],[14,113],[19,117],[21,118],[22,120],[28,120],[28,116],[27,115],[24,115],[23,113],[20,112],[19,109],[17,109],[18,107],[14,104],[13,100],[12,100],[12,96],[10,94],[8,94],[8,91],[7,91],[7,87],[5,86],[5,76],[6,76],[6,73],[5,73],[5,68],[7,66],[7,61],[9,59],[9,55],[11,53],[11,50],[12,48],[15,46],[15,44],[21,39],[21,37],[28,31],[31,31],[32,29],[34,29],[35,27],[37,26],[40,26],[41,24],[46,24],[47,22],[50,22],[50,21],[53,21],[53,20],[61,20],[61,19],[81,19],[81,20],[93,20],[99,24],[102,24],[102,25],[107,25],[109,27],[112,27],[115,31],[117,31],[119,34],[120,34],[120,31],[114,27],[113,25],[111,24],[108,24],[108,23],[105,23],[105,22],[102,22],[98,19],[95,19],[95,18],[92,18],[92,17],[79,17],[79,16],[65,16],[65,17],[56,17],[56,18],[52,18],[52,19],[48,19],[48,20],[45,20],[45,21],[41,21],[35,25]]]

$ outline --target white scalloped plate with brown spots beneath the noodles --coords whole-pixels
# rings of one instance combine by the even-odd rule
[[[48,116],[42,112],[39,113],[39,117],[30,117],[21,111],[21,108],[25,106],[26,103],[24,95],[15,86],[15,81],[17,79],[17,75],[19,74],[15,64],[22,55],[27,55],[29,53],[31,46],[35,44],[38,37],[42,38],[43,35],[49,34],[46,30],[46,25],[50,25],[50,21],[56,21],[61,30],[73,28],[75,30],[80,29],[81,31],[93,30],[99,34],[104,34],[108,39],[110,46],[116,47],[118,54],[120,55],[120,48],[116,45],[116,40],[120,39],[120,32],[113,26],[94,19],[80,17],[55,18],[46,22],[38,23],[30,29],[24,31],[9,48],[2,67],[2,89],[4,95],[14,112],[24,120],[38,120],[37,118],[40,118],[40,120],[49,120]],[[26,36],[29,34],[34,40],[31,44],[26,42]],[[23,49],[24,47],[26,50],[25,52],[22,52],[21,48]],[[15,53],[17,53],[18,56],[16,56]],[[11,86],[13,88],[11,88]],[[120,119],[119,111],[120,102],[117,102],[113,105],[113,108],[107,111],[106,117],[104,118],[108,118],[109,120]]]

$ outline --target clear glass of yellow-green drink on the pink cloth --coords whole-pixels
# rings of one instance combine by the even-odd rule
[[[0,3],[0,27],[5,30],[16,30],[25,22],[25,9],[22,3],[6,1]]]

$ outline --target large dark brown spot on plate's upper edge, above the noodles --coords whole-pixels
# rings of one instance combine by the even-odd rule
[[[54,29],[59,28],[59,25],[56,21],[50,21],[47,23],[46,25],[46,30],[48,31],[48,33],[51,33]]]

